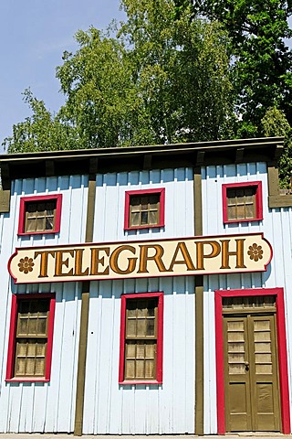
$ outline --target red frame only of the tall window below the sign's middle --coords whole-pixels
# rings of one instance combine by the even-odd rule
[[[156,380],[125,380],[125,332],[126,332],[126,301],[144,297],[158,297],[157,310],[157,359]],[[120,304],[120,369],[119,384],[162,384],[162,349],[163,349],[163,293],[122,294]]]

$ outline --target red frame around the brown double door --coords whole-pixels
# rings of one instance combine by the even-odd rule
[[[276,295],[276,332],[279,365],[279,385],[282,414],[282,432],[290,434],[290,404],[287,373],[287,339],[285,327],[285,307],[283,288],[252,288],[245,290],[216,290],[215,292],[215,343],[216,343],[216,383],[217,383],[217,429],[225,434],[224,408],[224,339],[222,298],[246,295]]]

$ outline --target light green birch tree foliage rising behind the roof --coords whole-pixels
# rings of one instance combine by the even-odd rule
[[[114,34],[78,31],[57,79],[57,114],[31,92],[32,116],[14,125],[8,152],[215,140],[231,120],[228,41],[217,22],[178,15],[174,0],[123,0]]]

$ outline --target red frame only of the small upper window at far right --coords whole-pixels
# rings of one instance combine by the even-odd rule
[[[227,211],[227,189],[236,187],[255,187],[255,218],[252,219],[228,219]],[[263,217],[263,189],[261,181],[246,181],[244,183],[228,183],[222,185],[222,199],[223,199],[223,222],[230,224],[233,222],[250,222],[260,221]]]

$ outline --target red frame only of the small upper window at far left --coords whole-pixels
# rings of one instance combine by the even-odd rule
[[[25,222],[26,222],[26,203],[31,202],[42,202],[42,201],[50,201],[56,200],[56,218],[55,218],[55,229],[54,230],[42,230],[42,231],[25,231]],[[19,236],[24,235],[40,235],[40,234],[48,234],[48,233],[57,233],[60,231],[61,226],[61,209],[62,209],[62,194],[55,195],[36,195],[34,197],[22,197],[20,198],[20,206],[19,206],[19,221],[18,221],[18,232]]]

